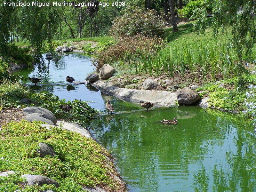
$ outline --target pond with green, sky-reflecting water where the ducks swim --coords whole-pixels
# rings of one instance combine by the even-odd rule
[[[93,71],[88,56],[59,56],[49,61],[49,82],[40,85],[66,100],[93,101],[103,111],[89,127],[116,158],[128,191],[256,191],[256,147],[252,122],[235,114],[198,106],[150,108],[125,102],[84,84],[67,90],[66,76],[84,81]],[[24,69],[25,77],[37,71]],[[31,88],[31,82],[26,81]],[[115,112],[107,114],[106,100]],[[159,120],[177,117],[178,124]]]

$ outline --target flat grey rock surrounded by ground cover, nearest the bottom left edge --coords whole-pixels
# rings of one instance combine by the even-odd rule
[[[32,185],[39,185],[42,186],[43,184],[46,185],[55,185],[57,188],[60,187],[59,183],[57,183],[57,181],[50,179],[49,177],[45,177],[42,175],[29,175],[29,174],[25,174],[25,175],[21,175],[21,177],[26,177],[27,181],[28,181],[28,185],[32,186]]]

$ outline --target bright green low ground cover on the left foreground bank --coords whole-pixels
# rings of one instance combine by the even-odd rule
[[[96,185],[106,191],[125,191],[125,186],[113,175],[114,164],[108,160],[111,154],[94,140],[81,134],[60,128],[47,130],[42,122],[12,122],[3,126],[0,143],[0,172],[14,171],[9,177],[1,177],[0,190],[9,191],[82,191],[83,187]],[[41,158],[36,149],[39,142],[51,146],[57,156]],[[26,186],[23,174],[44,175],[56,180],[54,185]]]

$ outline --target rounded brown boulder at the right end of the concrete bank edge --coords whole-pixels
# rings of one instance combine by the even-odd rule
[[[200,100],[199,93],[192,89],[179,89],[176,95],[179,105],[193,105]]]

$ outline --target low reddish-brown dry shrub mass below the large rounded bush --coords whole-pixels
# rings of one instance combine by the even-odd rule
[[[100,55],[94,59],[93,65],[97,69],[100,69],[105,63],[112,63],[113,58],[117,59],[128,59],[128,55],[137,54],[141,51],[143,52],[156,52],[164,47],[166,41],[162,38],[156,36],[146,37],[137,34],[133,37],[122,36],[117,41],[116,44],[108,46],[104,49]]]

